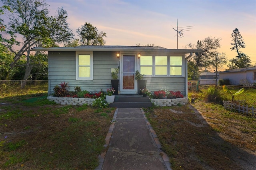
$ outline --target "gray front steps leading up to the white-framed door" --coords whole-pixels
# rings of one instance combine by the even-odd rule
[[[115,95],[114,103],[110,103],[110,107],[118,108],[140,108],[152,107],[149,97],[142,95]]]

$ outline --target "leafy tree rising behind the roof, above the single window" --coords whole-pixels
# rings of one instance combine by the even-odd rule
[[[81,38],[82,45],[104,45],[106,41],[103,39],[106,36],[105,32],[99,32],[98,29],[90,23],[85,23],[81,28],[76,30]]]

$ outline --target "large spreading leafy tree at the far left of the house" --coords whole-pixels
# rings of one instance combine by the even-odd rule
[[[10,70],[14,67],[23,67],[24,65],[17,63],[22,56],[25,56],[26,71],[23,79],[27,80],[31,70],[37,65],[32,56],[37,57],[40,54],[38,51],[35,54],[30,51],[33,46],[57,46],[58,43],[68,41],[74,36],[66,22],[68,15],[63,8],[59,8],[54,17],[48,16],[48,4],[44,3],[44,0],[2,0],[2,2],[13,10],[8,16],[10,22],[4,30],[10,39],[3,41],[4,45],[14,53]],[[22,40],[16,41],[18,40],[16,38]],[[19,45],[18,51],[14,49],[17,48],[15,45]]]

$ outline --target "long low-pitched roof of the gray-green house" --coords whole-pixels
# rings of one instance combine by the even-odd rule
[[[175,53],[200,53],[201,49],[167,49],[164,47],[121,46],[121,45],[80,45],[77,47],[33,47],[32,51],[160,51]]]

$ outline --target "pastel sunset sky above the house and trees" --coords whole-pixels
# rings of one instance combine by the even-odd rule
[[[46,0],[50,15],[62,7],[68,12],[68,22],[76,29],[90,22],[106,32],[105,45],[153,44],[177,48],[177,27],[194,26],[178,38],[178,48],[210,36],[221,38],[219,53],[228,59],[231,34],[238,28],[246,44],[240,49],[256,63],[256,1],[255,0]],[[225,67],[226,68],[226,67]]]

